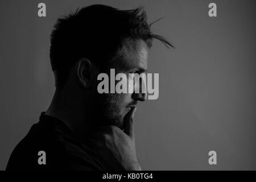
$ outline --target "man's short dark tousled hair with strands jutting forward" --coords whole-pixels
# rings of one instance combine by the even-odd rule
[[[152,39],[173,47],[163,36],[152,34],[151,24],[147,23],[142,7],[118,10],[105,5],[83,7],[57,19],[50,48],[56,88],[64,86],[72,66],[82,57],[102,69],[119,56],[123,46],[133,45],[139,39],[148,48]]]

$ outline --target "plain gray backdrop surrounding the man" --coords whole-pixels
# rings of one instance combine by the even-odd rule
[[[47,17],[38,17],[38,3]],[[208,16],[210,2],[217,18]],[[38,122],[55,90],[49,35],[57,17],[79,6],[143,5],[154,42],[148,73],[159,73],[159,98],[139,104],[137,153],[143,169],[256,169],[255,2],[253,1],[1,1],[0,169]],[[217,165],[208,152],[217,152]]]

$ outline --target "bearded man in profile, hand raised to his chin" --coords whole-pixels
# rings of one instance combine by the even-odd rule
[[[92,5],[57,20],[50,58],[51,105],[15,147],[9,169],[141,170],[133,117],[146,93],[98,93],[100,73],[147,71],[152,34],[139,9]]]

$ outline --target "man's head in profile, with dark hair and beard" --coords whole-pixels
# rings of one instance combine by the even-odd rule
[[[118,10],[92,5],[57,20],[51,35],[50,58],[56,89],[72,88],[85,109],[105,124],[123,128],[131,106],[144,101],[144,93],[97,92],[97,75],[147,70],[148,49],[162,36],[152,34],[141,8]],[[90,107],[88,107],[88,105]],[[84,111],[86,113],[86,110]]]

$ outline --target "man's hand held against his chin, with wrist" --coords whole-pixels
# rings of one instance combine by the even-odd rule
[[[135,150],[133,107],[125,117],[124,130],[111,125],[93,134],[90,144],[112,170],[141,170]]]

